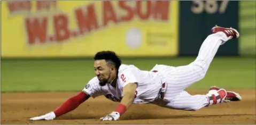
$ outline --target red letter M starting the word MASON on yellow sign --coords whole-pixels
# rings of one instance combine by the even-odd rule
[[[86,14],[82,9],[75,10],[75,14],[81,33],[85,32],[86,30],[91,31],[93,27],[96,29],[99,27],[94,4],[87,6]]]

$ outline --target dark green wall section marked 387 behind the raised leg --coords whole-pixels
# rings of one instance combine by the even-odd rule
[[[180,55],[197,55],[217,24],[238,27],[238,1],[180,1]],[[218,55],[238,55],[238,39],[222,45]]]

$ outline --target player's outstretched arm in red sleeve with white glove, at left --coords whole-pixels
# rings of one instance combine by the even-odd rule
[[[74,109],[76,109],[76,107],[78,107],[80,104],[86,101],[89,97],[90,96],[88,94],[86,94],[84,91],[81,91],[79,94],[67,99],[67,101],[61,104],[55,111],[41,116],[36,116],[34,118],[30,118],[30,120],[53,120],[58,116],[73,111]]]

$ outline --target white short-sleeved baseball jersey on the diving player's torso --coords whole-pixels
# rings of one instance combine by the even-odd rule
[[[94,77],[88,82],[87,86],[84,87],[83,91],[93,98],[104,95],[114,102],[121,102],[123,87],[129,83],[137,84],[134,103],[150,103],[160,95],[162,81],[157,73],[139,70],[134,65],[126,64],[121,64],[118,70],[116,87],[110,84],[100,86],[98,78]]]

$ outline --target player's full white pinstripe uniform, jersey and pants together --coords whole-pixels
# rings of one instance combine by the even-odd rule
[[[117,88],[110,84],[99,86],[97,77],[92,78],[83,89],[92,97],[105,95],[120,102],[122,88],[136,82],[137,97],[134,103],[153,103],[159,106],[180,110],[198,110],[208,104],[208,95],[190,95],[184,89],[204,78],[218,48],[228,37],[223,32],[208,36],[200,47],[195,61],[184,66],[156,65],[151,71],[142,71],[134,65],[122,64],[119,68]],[[157,72],[154,73],[153,71]],[[160,98],[162,83],[166,83],[164,99]],[[210,101],[210,104],[213,102]]]

